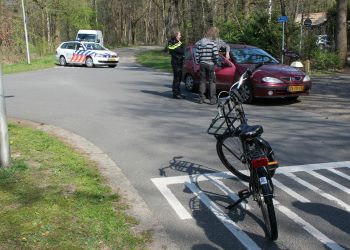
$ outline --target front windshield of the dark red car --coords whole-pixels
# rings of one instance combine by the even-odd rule
[[[278,63],[270,54],[259,48],[231,48],[231,53],[236,62],[241,64]]]

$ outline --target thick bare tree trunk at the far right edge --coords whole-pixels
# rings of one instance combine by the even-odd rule
[[[337,0],[337,39],[336,50],[342,67],[347,63],[347,0]]]

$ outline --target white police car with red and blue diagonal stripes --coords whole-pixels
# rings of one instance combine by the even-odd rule
[[[56,49],[56,59],[61,66],[67,64],[86,65],[87,67],[108,66],[114,68],[119,62],[117,53],[99,43],[68,41]]]

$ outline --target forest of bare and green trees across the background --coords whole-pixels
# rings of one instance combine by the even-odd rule
[[[284,48],[298,52],[320,69],[343,68],[349,36],[350,0],[0,0],[0,53],[2,63],[26,60],[22,2],[25,7],[32,57],[54,54],[57,46],[74,40],[79,29],[99,29],[109,48],[162,45],[174,29],[185,44],[199,40],[210,26],[222,39],[258,46],[280,58],[282,24]],[[326,12],[327,22],[307,28],[294,22],[297,14]],[[331,46],[316,47],[317,35],[328,34]]]

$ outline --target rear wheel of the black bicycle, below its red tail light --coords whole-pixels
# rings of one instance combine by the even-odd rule
[[[265,180],[267,181],[267,183],[257,184],[258,185],[257,202],[264,218],[266,236],[270,240],[275,241],[278,238],[278,229],[277,229],[275,207],[273,205],[273,200],[272,200],[273,188],[272,188],[271,179],[266,175],[267,173],[264,172],[264,174],[262,174],[261,177],[265,177],[266,178]]]

